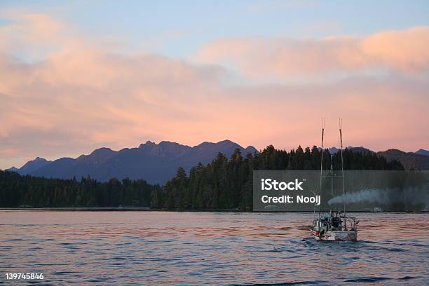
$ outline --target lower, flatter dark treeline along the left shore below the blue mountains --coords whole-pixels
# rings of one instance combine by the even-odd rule
[[[0,207],[150,207],[161,190],[142,179],[46,179],[0,171]]]

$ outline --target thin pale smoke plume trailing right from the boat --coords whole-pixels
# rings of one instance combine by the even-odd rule
[[[328,201],[328,205],[335,203],[381,203],[388,204],[392,201],[392,191],[380,189],[368,189],[355,193],[346,193],[336,196]]]

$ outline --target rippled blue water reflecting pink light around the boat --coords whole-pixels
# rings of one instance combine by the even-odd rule
[[[0,211],[0,282],[429,284],[429,214],[355,215],[357,243],[321,243],[306,213]]]

